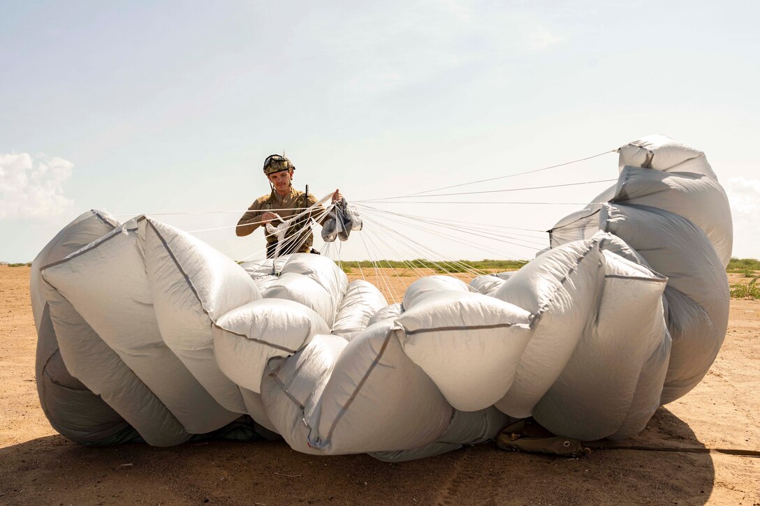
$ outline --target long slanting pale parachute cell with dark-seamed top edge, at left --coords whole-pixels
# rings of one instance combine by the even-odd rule
[[[160,334],[143,256],[145,225],[144,217],[125,223],[46,267],[43,279],[71,303],[188,433],[220,429],[239,415],[224,410],[205,391]]]

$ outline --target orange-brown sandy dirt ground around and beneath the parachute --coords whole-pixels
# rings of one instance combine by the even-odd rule
[[[758,301],[731,302],[726,341],[705,380],[622,441],[663,450],[575,459],[483,444],[391,464],[299,454],[283,442],[93,448],[66,440],[37,400],[29,273],[0,267],[0,504],[760,505],[760,458],[715,451],[760,450]],[[391,279],[403,293],[414,278]],[[665,450],[674,448],[712,451]]]

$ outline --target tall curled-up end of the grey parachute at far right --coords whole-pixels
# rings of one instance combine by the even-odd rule
[[[600,204],[596,219],[587,220],[586,230],[612,232],[629,245],[627,257],[636,255],[669,278],[663,296],[672,347],[660,399],[669,403],[704,377],[725,337],[730,207],[699,150],[651,135],[618,152],[614,194],[609,204]],[[570,218],[551,230],[553,245],[574,237]]]

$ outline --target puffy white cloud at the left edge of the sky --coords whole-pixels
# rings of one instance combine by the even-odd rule
[[[43,154],[0,153],[0,220],[40,220],[70,210],[63,183],[73,166]]]

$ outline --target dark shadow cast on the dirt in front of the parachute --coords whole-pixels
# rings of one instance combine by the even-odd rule
[[[622,444],[702,447],[665,408]],[[486,444],[392,464],[282,441],[96,448],[58,435],[0,449],[2,504],[703,504],[713,483],[709,454],[666,451],[570,459]]]

